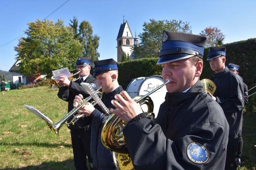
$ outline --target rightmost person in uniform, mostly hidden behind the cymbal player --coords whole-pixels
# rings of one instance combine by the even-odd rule
[[[236,73],[237,75],[239,74],[238,70],[239,70],[239,65],[236,64],[232,64],[229,63],[227,65],[229,71],[232,71],[234,73]],[[247,85],[243,82],[244,85],[244,106],[248,103],[248,87]],[[242,122],[243,122],[243,111],[242,111]],[[243,151],[243,138],[242,135],[239,138],[239,142],[238,142],[238,146],[237,146],[237,167],[241,167],[242,161],[241,161],[241,155],[242,155],[242,151]]]

